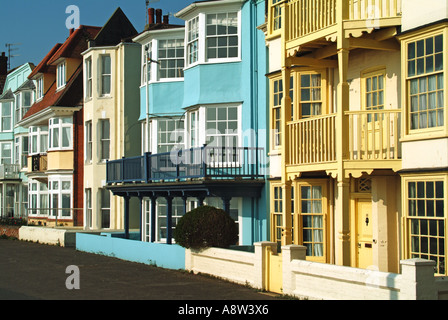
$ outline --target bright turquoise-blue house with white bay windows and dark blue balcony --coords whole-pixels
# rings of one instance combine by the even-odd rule
[[[197,1],[160,10],[134,38],[142,44],[142,156],[109,161],[109,189],[141,200],[142,241],[172,243],[186,212],[221,207],[239,244],[268,238],[267,55],[263,0]],[[125,227],[129,236],[129,225]]]

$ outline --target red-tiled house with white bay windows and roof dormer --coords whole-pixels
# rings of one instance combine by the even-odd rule
[[[83,225],[83,59],[99,27],[70,30],[28,79],[35,102],[19,122],[28,129],[28,223]]]

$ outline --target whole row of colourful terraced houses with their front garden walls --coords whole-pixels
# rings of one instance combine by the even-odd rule
[[[447,0],[147,14],[139,32],[118,8],[7,73],[0,209],[24,238],[295,296],[448,297]],[[234,247],[174,243],[203,204]]]

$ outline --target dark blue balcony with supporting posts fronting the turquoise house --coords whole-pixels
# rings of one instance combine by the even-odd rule
[[[201,206],[207,197],[221,198],[224,211],[230,213],[232,198],[261,197],[266,169],[263,148],[203,146],[108,161],[106,176],[107,188],[124,198],[125,238],[129,238],[130,199],[139,199],[140,217],[143,199],[149,199],[149,239],[156,241],[157,199],[163,198],[166,200],[166,243],[171,244],[174,198],[182,199],[184,214],[188,199],[197,199]]]

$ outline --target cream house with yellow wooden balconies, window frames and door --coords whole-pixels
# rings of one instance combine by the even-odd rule
[[[271,241],[446,275],[448,1],[267,2]]]

